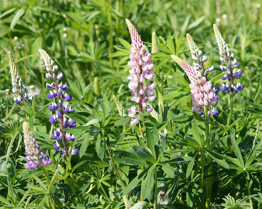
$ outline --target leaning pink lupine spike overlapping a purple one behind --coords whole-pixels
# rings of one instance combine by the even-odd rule
[[[218,93],[218,90],[212,88],[212,83],[206,80],[206,78],[202,76],[199,71],[192,68],[184,60],[175,55],[171,55],[171,57],[185,71],[191,82],[189,87],[191,88],[191,99],[194,106],[192,107],[192,110],[203,114],[204,106],[206,106],[208,116],[210,116],[211,113],[213,115],[218,115],[220,112],[219,110],[212,111],[210,113],[211,106],[215,106],[217,104],[218,96],[216,96],[216,94]]]

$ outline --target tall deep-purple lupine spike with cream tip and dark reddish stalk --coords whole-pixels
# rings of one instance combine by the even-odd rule
[[[50,116],[49,122],[54,125],[56,123],[61,124],[61,129],[56,128],[51,134],[51,138],[54,140],[57,140],[56,144],[54,144],[54,149],[56,151],[60,151],[60,154],[62,157],[67,156],[69,154],[76,155],[79,148],[77,149],[72,149],[70,146],[69,149],[67,147],[67,143],[69,141],[75,141],[76,136],[75,135],[70,135],[69,133],[65,133],[64,129],[65,128],[74,128],[76,126],[75,121],[69,118],[68,120],[66,119],[67,112],[75,112],[72,107],[68,107],[67,103],[63,105],[63,102],[70,102],[72,99],[72,96],[69,94],[65,93],[65,91],[68,90],[68,85],[67,83],[59,83],[58,80],[63,78],[63,74],[61,72],[58,72],[56,74],[56,71],[58,71],[58,66],[54,65],[54,61],[51,59],[51,57],[46,53],[45,50],[39,49],[38,50],[43,57],[43,60],[45,62],[45,65],[43,65],[43,68],[47,71],[46,73],[46,78],[52,79],[52,83],[46,83],[46,88],[48,89],[54,89],[50,90],[49,93],[47,94],[47,97],[50,100],[53,100],[48,108],[51,111],[53,115]],[[61,147],[58,142],[63,142],[64,147]]]

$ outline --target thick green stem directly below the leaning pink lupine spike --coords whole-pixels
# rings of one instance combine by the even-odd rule
[[[206,126],[206,131],[205,131],[205,135],[206,135],[206,139],[208,139],[209,137],[209,123],[208,123],[208,111],[207,111],[207,108],[205,106],[205,126]],[[210,150],[210,140],[207,142],[206,144],[206,147],[207,149]],[[207,164],[210,164],[212,159],[211,159],[211,156],[207,153],[206,154],[206,158],[207,158]],[[211,172],[211,169],[212,169],[212,166],[210,165],[207,169],[207,173],[208,175],[211,175],[212,172]],[[207,179],[207,183],[206,183],[206,192],[207,192],[207,200],[206,200],[206,208],[209,209],[210,206],[211,206],[211,191],[212,191],[212,178],[209,177]]]

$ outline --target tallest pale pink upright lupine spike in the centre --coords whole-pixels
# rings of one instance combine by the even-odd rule
[[[129,70],[130,76],[128,76],[130,80],[128,88],[133,90],[131,101],[139,103],[139,109],[137,109],[135,105],[133,105],[131,109],[127,109],[129,111],[128,116],[131,118],[132,126],[139,122],[139,115],[135,118],[136,113],[142,113],[143,108],[145,108],[146,112],[151,112],[153,110],[146,103],[146,100],[150,102],[154,101],[155,96],[153,95],[153,89],[155,88],[155,84],[149,82],[146,85],[145,79],[151,80],[155,76],[155,73],[152,73],[153,61],[150,59],[151,54],[145,51],[145,46],[140,35],[128,19],[126,19],[126,23],[132,41],[130,61],[128,62],[128,66],[131,68]]]

